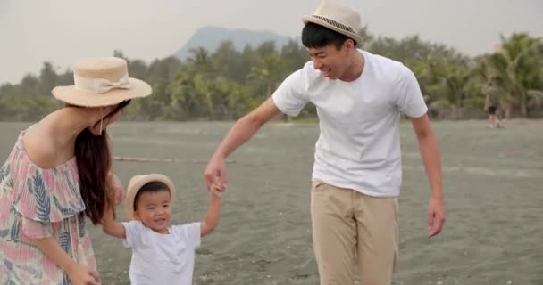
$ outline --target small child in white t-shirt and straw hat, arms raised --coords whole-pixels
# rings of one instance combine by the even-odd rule
[[[120,184],[117,184],[121,187]],[[132,248],[130,284],[190,285],[195,250],[200,238],[213,232],[221,216],[221,193],[210,191],[202,222],[171,225],[176,191],[165,175],[136,175],[129,181],[125,200],[131,221],[115,221],[113,208],[104,214],[104,232]]]

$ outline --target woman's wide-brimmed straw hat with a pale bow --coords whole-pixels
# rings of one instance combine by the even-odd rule
[[[80,107],[104,107],[146,97],[151,86],[129,77],[127,62],[118,57],[88,58],[73,66],[74,85],[56,86],[56,99]]]

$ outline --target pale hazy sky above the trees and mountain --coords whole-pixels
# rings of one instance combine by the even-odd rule
[[[0,84],[38,74],[43,61],[61,70],[85,56],[152,61],[177,51],[196,28],[268,29],[299,37],[303,14],[320,0],[0,0]],[[543,37],[541,0],[345,0],[374,34],[486,53],[499,34]]]

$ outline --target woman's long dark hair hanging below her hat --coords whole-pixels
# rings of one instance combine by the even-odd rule
[[[113,117],[129,102],[119,103],[103,119]],[[100,124],[100,121],[97,121],[95,126],[97,124]],[[93,224],[98,224],[104,215],[106,205],[114,205],[107,179],[112,166],[107,132],[103,130],[102,135],[94,135],[88,128],[84,129],[75,140],[75,157],[79,171],[79,191],[86,208],[85,214]]]

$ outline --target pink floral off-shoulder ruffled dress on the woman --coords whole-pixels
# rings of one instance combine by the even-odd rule
[[[0,168],[0,284],[71,284],[31,240],[53,237],[75,261],[96,270],[76,159],[42,169],[24,150],[24,134]]]

